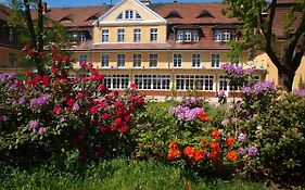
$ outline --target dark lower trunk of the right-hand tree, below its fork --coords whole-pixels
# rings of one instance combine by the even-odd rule
[[[279,85],[283,88],[283,90],[292,91],[294,76],[295,72],[278,68]]]

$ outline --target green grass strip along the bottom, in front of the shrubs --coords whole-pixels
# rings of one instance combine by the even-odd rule
[[[82,164],[84,166],[84,164]],[[71,170],[71,169],[69,169]],[[69,173],[55,166],[33,169],[7,169],[0,174],[0,189],[54,190],[183,190],[191,189],[265,189],[262,183],[233,180],[190,180],[180,168],[148,161],[113,160]]]

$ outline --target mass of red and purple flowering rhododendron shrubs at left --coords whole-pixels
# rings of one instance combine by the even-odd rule
[[[111,92],[90,64],[80,71],[87,76],[67,79],[69,58],[55,50],[51,56],[48,75],[26,72],[23,81],[0,74],[0,151],[77,149],[82,160],[126,151],[135,115],[144,105],[135,85],[123,97]]]

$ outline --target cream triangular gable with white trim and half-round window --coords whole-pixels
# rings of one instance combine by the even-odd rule
[[[123,0],[100,16],[94,26],[128,24],[166,24],[166,20],[138,0]]]

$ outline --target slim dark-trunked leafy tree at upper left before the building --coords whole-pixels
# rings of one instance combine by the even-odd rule
[[[41,52],[68,47],[66,28],[45,16],[42,0],[7,0],[7,3],[12,11],[9,24],[17,29],[20,41],[29,43],[35,50],[33,64],[40,74],[45,74],[48,65]]]

